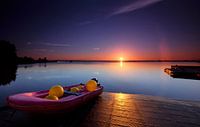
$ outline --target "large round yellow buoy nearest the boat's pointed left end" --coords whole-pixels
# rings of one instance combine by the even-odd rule
[[[51,96],[62,97],[63,94],[64,94],[64,89],[60,85],[53,86],[49,90],[49,95],[51,95]]]

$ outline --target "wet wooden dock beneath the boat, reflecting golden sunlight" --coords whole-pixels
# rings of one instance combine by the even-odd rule
[[[64,115],[0,110],[0,127],[200,127],[200,102],[104,92]]]

